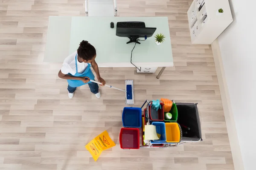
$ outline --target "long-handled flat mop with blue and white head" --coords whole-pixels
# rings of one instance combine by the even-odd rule
[[[96,82],[94,80],[90,80],[90,82],[95,82],[97,84],[102,85],[101,82]],[[119,91],[126,92],[126,95],[125,95],[126,105],[133,105],[134,104],[133,80],[125,80],[125,90],[115,88],[112,85],[106,85],[105,84],[105,86],[107,86],[109,88],[114,88],[114,89],[119,90]]]

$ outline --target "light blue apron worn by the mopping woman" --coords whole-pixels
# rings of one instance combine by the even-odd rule
[[[91,69],[90,69],[90,64],[89,63],[87,63],[88,64],[88,66],[87,66],[87,68],[84,70],[84,72],[83,73],[78,73],[78,71],[77,71],[77,54],[76,54],[76,74],[75,75],[72,75],[72,74],[70,74],[69,73],[69,75],[70,76],[73,76],[73,77],[89,77],[90,79],[92,79],[92,80],[94,80],[94,75],[93,75],[93,72],[91,71]],[[85,84],[88,84],[89,82],[87,82],[87,83],[84,83],[83,81],[81,81],[81,80],[70,80],[70,79],[68,79],[67,80],[67,82],[68,82],[68,85],[70,85],[71,87],[73,87],[73,88],[76,88],[76,87],[79,87],[79,86],[81,86],[81,85],[85,85]]]

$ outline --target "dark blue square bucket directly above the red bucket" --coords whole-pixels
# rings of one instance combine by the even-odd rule
[[[124,108],[122,113],[123,127],[141,127],[141,108]]]

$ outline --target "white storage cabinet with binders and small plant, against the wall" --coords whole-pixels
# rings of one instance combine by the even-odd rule
[[[228,0],[194,0],[187,14],[192,44],[212,44],[233,22]]]

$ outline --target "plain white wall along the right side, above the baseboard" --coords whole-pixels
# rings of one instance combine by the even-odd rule
[[[244,170],[256,170],[256,1],[230,7],[234,21],[218,42]]]

